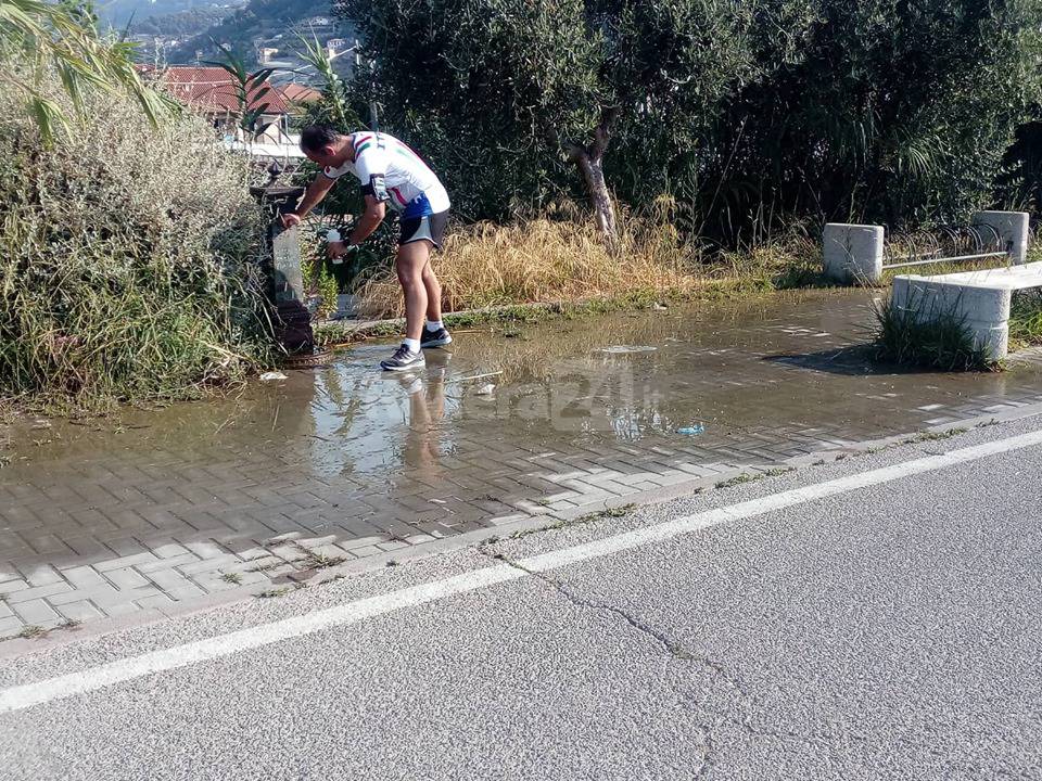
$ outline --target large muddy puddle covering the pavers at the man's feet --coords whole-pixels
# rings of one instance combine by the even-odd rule
[[[294,451],[315,475],[389,476],[483,443],[612,447],[730,431],[842,428],[843,439],[910,431],[975,400],[1019,402],[1039,372],[945,374],[874,367],[863,292],[783,295],[457,333],[425,369],[381,372],[385,344],[205,402],[126,411],[13,435],[34,471],[76,456],[138,452],[215,461]],[[49,441],[50,440],[50,441]],[[49,447],[56,445],[56,447]],[[122,460],[122,458],[120,458]],[[17,470],[4,475],[10,478]],[[59,477],[59,475],[55,475]]]

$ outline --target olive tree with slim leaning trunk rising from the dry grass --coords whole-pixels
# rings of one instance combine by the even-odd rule
[[[538,202],[580,174],[597,225],[615,215],[605,161],[620,129],[690,137],[753,72],[751,14],[712,0],[343,0],[372,69],[359,88],[420,139],[471,216]],[[649,143],[657,143],[649,138]]]

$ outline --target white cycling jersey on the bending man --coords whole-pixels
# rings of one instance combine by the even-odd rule
[[[368,130],[348,138],[355,159],[336,168],[327,166],[323,170],[327,177],[339,179],[354,174],[364,193],[390,203],[405,218],[448,210],[450,204],[445,188],[408,145],[393,136]]]

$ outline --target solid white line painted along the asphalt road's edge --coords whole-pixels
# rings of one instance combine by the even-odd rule
[[[933,472],[945,466],[976,461],[999,453],[1042,445],[1042,431],[997,441],[952,450],[941,456],[929,456],[893,466],[817,483],[803,488],[773,494],[759,499],[732,504],[717,510],[687,515],[653,526],[625,532],[603,539],[584,542],[549,553],[518,561],[521,568],[509,564],[475,569],[433,582],[412,586],[391,593],[305,613],[304,615],[240,629],[206,640],[153,651],[111,662],[78,673],[59,676],[35,683],[0,690],[0,713],[21,710],[55,700],[97,691],[114,683],[134,680],[156,673],[178,669],[207,660],[230,656],[249,649],[262,648],[281,640],[312,635],[334,626],[354,624],[373,616],[385,615],[403,607],[429,604],[440,599],[475,591],[495,584],[526,577],[529,572],[547,572],[569,564],[599,559],[611,553],[632,550],[651,542],[661,542],[684,534],[716,526],[727,521],[755,517],[776,510],[803,504],[825,497],[848,494],[859,488],[889,483],[911,475]],[[528,572],[524,572],[528,571]]]

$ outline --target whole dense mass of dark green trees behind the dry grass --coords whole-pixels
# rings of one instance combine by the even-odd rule
[[[335,8],[371,62],[355,90],[472,218],[582,185],[609,235],[613,194],[666,191],[730,244],[808,218],[953,220],[994,200],[1038,118],[1037,0]]]

